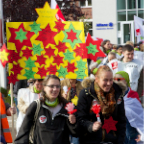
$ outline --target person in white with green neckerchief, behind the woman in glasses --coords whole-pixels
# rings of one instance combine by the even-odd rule
[[[18,109],[19,114],[16,122],[16,130],[17,133],[21,127],[23,119],[25,117],[26,111],[29,105],[34,101],[40,98],[41,91],[42,91],[42,81],[43,79],[33,79],[32,85],[28,88],[21,88],[18,91]]]

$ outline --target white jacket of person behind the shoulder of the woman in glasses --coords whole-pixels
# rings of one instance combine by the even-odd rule
[[[27,108],[34,100],[37,100],[39,97],[40,94],[34,93],[33,86],[30,86],[29,88],[19,89],[18,91],[19,115],[16,122],[17,133],[21,127]]]

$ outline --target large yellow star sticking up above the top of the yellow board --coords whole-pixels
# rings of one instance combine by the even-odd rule
[[[36,8],[36,12],[39,15],[36,20],[37,23],[57,21],[56,13],[58,9],[51,9],[48,2],[45,3],[43,8]]]

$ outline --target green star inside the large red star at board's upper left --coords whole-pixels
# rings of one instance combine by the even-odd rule
[[[20,42],[23,42],[23,40],[26,40],[27,37],[26,37],[26,34],[27,32],[24,32],[22,29],[20,29],[18,32],[15,32],[16,33],[16,40],[20,40]]]

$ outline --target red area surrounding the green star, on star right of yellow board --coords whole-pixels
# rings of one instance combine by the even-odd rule
[[[93,40],[91,35],[88,33],[87,39],[86,39],[86,47],[89,46],[91,44],[96,45],[97,50],[99,52],[96,52],[95,55],[93,54],[88,54],[88,49],[84,48],[85,52],[87,53],[87,58],[96,61],[98,57],[106,57],[106,55],[104,54],[104,52],[100,49],[100,45],[101,45],[101,39],[98,40]]]

